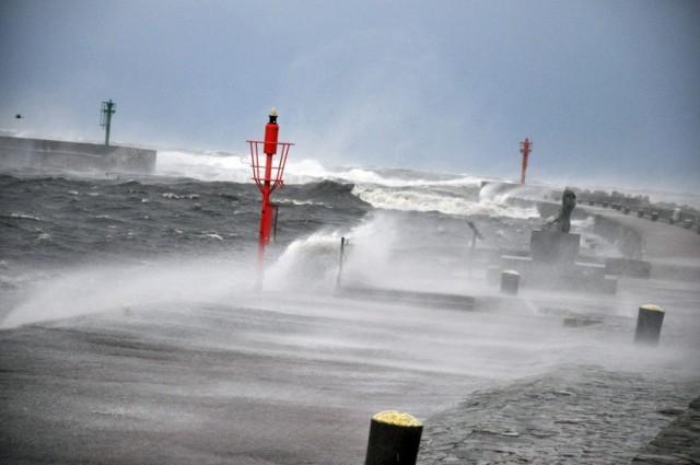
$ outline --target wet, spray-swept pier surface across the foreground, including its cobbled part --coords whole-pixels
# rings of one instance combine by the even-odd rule
[[[591,212],[640,232],[650,277],[498,310],[236,289],[7,327],[0,462],[357,464],[371,416],[398,409],[424,426],[424,465],[684,463],[697,449],[662,431],[700,395],[699,235]],[[653,348],[633,344],[643,303],[667,312]],[[567,325],[572,309],[599,323]]]

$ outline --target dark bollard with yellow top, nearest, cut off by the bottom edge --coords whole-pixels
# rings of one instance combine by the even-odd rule
[[[364,465],[416,465],[423,426],[413,416],[386,410],[372,417]]]

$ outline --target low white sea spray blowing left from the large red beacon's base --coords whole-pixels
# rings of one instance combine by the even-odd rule
[[[72,318],[154,303],[223,303],[253,288],[253,264],[233,266],[214,257],[186,261],[156,259],[138,265],[101,264],[65,268],[32,282],[25,299],[1,322],[2,328]]]

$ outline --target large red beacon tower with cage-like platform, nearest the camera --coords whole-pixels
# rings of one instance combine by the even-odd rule
[[[261,286],[262,267],[265,259],[265,246],[270,243],[270,235],[275,240],[277,230],[277,205],[270,202],[270,194],[281,186],[284,188],[282,175],[287,164],[289,149],[293,146],[290,142],[278,142],[279,126],[277,125],[277,108],[270,109],[270,119],[265,126],[265,140],[247,140],[250,144],[250,166],[253,167],[253,179],[262,193],[262,210],[260,213],[260,235],[258,237],[258,282]],[[279,156],[275,161],[275,155]],[[265,156],[260,155],[260,151]],[[272,222],[275,220],[275,229]]]

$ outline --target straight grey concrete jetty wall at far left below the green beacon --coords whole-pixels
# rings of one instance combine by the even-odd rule
[[[0,164],[14,167],[149,174],[155,158],[135,147],[0,136]]]

